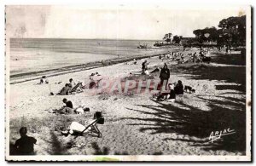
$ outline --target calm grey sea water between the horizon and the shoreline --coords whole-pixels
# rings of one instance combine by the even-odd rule
[[[10,74],[38,72],[124,56],[160,54],[165,49],[137,49],[139,44],[153,46],[155,41],[11,38]]]

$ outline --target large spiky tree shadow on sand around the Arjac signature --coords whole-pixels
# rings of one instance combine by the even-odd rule
[[[160,133],[177,135],[189,135],[196,137],[196,140],[166,138],[164,140],[182,140],[193,143],[192,146],[201,146],[204,150],[225,150],[229,152],[244,152],[246,148],[246,112],[245,106],[240,103],[231,102],[232,98],[222,100],[205,100],[211,111],[203,111],[194,106],[183,104],[177,101],[179,106],[157,102],[158,106],[138,105],[148,108],[150,111],[133,110],[143,114],[154,115],[152,118],[125,117],[139,123],[130,125],[140,125],[141,132],[150,131],[151,135]],[[235,99],[236,100],[236,99]],[[223,103],[222,103],[223,102]],[[235,104],[236,103],[236,104]],[[227,107],[223,107],[225,104]],[[230,109],[232,108],[232,109]],[[129,109],[129,108],[128,108]],[[148,110],[146,109],[146,110]],[[241,109],[243,109],[241,111]],[[152,112],[153,111],[153,112]],[[234,129],[233,135],[224,135],[221,139],[208,143],[208,138],[212,131],[224,129]],[[198,140],[200,139],[200,140]]]

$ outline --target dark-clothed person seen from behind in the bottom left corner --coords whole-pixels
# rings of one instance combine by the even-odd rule
[[[34,144],[37,140],[27,136],[26,127],[20,128],[20,139],[15,141],[15,152],[17,155],[34,155]]]

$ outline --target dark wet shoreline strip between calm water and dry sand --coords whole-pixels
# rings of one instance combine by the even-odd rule
[[[170,50],[166,50],[166,52],[161,54],[167,54]],[[67,73],[72,72],[82,72],[87,71],[90,69],[100,68],[104,66],[113,66],[119,63],[124,63],[127,61],[131,61],[133,59],[142,60],[149,57],[159,56],[160,54],[147,54],[147,55],[134,55],[131,57],[124,57],[124,58],[115,58],[110,60],[104,60],[102,61],[95,61],[85,64],[79,64],[75,66],[65,66],[61,68],[55,68],[55,69],[49,69],[44,71],[38,71],[38,72],[26,72],[26,73],[20,73],[15,75],[9,76],[9,84],[16,84],[16,83],[25,83],[32,80],[37,80],[41,78],[42,76],[46,77],[55,77],[59,75],[64,75]],[[105,64],[106,63],[106,64]]]

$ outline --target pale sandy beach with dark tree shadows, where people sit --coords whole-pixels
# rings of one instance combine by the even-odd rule
[[[157,57],[148,60],[150,70],[165,62]],[[141,71],[142,62],[138,60],[137,65],[121,63],[49,77],[50,90],[56,93],[71,77],[88,82],[92,72],[99,72],[104,79],[128,77],[130,72]],[[195,94],[178,95],[175,102],[156,101],[150,93],[95,94],[93,89],[84,89],[83,93],[75,95],[50,96],[49,85],[36,85],[38,80],[12,84],[10,145],[20,137],[20,127],[26,126],[28,135],[38,140],[35,146],[37,155],[244,155],[245,72],[240,75],[233,72],[235,68],[241,71],[239,68],[245,66],[176,64],[169,63],[172,72],[169,82],[181,80],[196,91]],[[230,68],[233,74],[214,71],[223,70],[221,67]],[[215,79],[204,75],[209,71],[216,72]],[[57,84],[60,81],[63,83]],[[90,107],[90,112],[83,115],[55,115],[46,111],[62,106],[63,97],[72,100],[75,106]],[[96,135],[77,138],[60,135],[61,129],[67,128],[72,121],[85,123],[93,117],[94,112],[102,112],[105,117],[105,123],[98,125],[102,138]],[[212,131],[228,128],[235,129],[239,135],[226,135],[213,143],[208,142]]]

